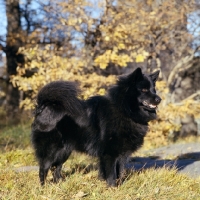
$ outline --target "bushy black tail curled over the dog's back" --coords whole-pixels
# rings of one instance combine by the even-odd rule
[[[37,95],[34,131],[49,132],[65,116],[79,125],[86,121],[84,102],[78,99],[77,84],[68,81],[54,81],[44,86]]]

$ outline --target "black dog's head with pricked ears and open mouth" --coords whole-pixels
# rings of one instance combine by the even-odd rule
[[[156,118],[156,109],[161,98],[156,94],[155,83],[159,71],[151,75],[144,75],[137,68],[126,77],[119,80],[120,88],[124,93],[124,107],[135,121],[148,122]]]

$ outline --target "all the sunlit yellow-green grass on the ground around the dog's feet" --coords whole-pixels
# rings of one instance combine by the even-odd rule
[[[132,172],[122,185],[108,188],[97,178],[97,160],[78,153],[64,164],[65,181],[52,184],[49,174],[47,184],[41,187],[37,170],[17,171],[22,166],[37,165],[30,145],[30,124],[5,128],[0,132],[0,144],[1,200],[200,199],[199,178],[189,178],[167,167]]]

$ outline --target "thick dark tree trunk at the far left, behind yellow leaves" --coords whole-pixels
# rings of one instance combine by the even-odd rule
[[[19,64],[22,64],[22,55],[17,55],[19,47],[22,46],[22,27],[20,22],[19,0],[6,0],[7,36],[6,36],[6,59],[7,59],[7,94],[6,110],[8,121],[19,119],[19,90],[9,82],[9,77],[16,74]]]

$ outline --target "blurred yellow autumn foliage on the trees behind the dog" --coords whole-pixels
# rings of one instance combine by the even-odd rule
[[[38,90],[53,80],[79,82],[80,98],[86,99],[104,95],[115,83],[116,76],[103,73],[110,64],[120,71],[130,62],[145,62],[173,49],[173,69],[182,57],[191,55],[192,36],[185,27],[186,15],[195,9],[193,1],[49,1],[44,9],[48,13],[44,20],[54,26],[29,35],[31,42],[19,50],[26,62],[11,77],[12,84],[26,94],[21,101],[24,109],[32,109]],[[45,46],[37,44],[45,36],[54,40],[49,39]],[[61,39],[59,45],[57,38]],[[149,135],[164,141],[171,131],[180,129],[174,119],[185,114],[199,118],[200,105],[193,99],[171,103],[167,80],[157,87],[163,103]]]

